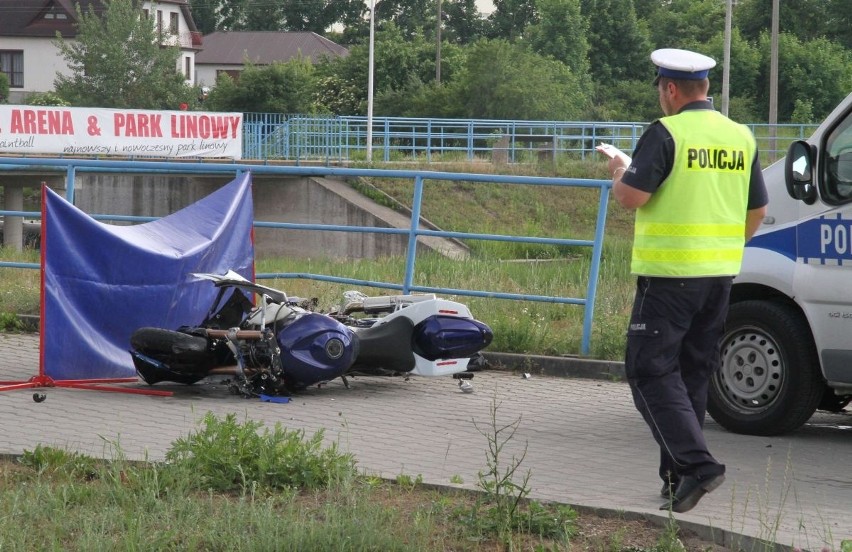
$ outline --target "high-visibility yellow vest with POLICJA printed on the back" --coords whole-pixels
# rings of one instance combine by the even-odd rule
[[[688,110],[660,122],[674,139],[674,165],[636,211],[631,271],[736,275],[745,245],[754,136],[712,110]]]

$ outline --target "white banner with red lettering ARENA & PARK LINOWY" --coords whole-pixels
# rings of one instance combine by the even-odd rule
[[[0,153],[242,159],[242,113],[0,105]]]

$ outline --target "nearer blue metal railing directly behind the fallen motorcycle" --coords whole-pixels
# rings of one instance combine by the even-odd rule
[[[34,159],[34,158],[0,158],[0,171],[45,171],[66,173],[66,198],[73,203],[75,175],[80,172],[135,172],[135,173],[180,173],[180,174],[240,174],[249,171],[262,175],[281,176],[332,176],[332,177],[370,177],[370,178],[395,178],[412,179],[414,181],[414,195],[412,198],[411,225],[403,228],[376,228],[366,226],[339,226],[326,224],[301,224],[254,221],[255,227],[282,228],[306,231],[330,231],[330,232],[371,232],[388,234],[407,234],[408,249],[405,260],[405,274],[401,284],[392,282],[377,282],[372,280],[360,280],[353,278],[341,278],[319,274],[308,273],[260,273],[258,279],[269,278],[303,278],[321,280],[367,287],[378,287],[384,289],[399,290],[402,293],[424,292],[453,294],[459,296],[486,297],[507,300],[539,301],[558,304],[580,305],[583,307],[583,336],[581,342],[581,353],[589,354],[590,336],[594,314],[595,297],[597,294],[597,282],[600,270],[601,251],[604,238],[604,226],[607,215],[607,202],[611,182],[609,180],[588,180],[572,178],[543,178],[532,176],[506,176],[491,174],[472,173],[448,173],[434,171],[415,170],[381,170],[381,169],[348,169],[333,167],[281,167],[269,165],[247,165],[239,163],[178,163],[178,162],[145,162],[145,161],[103,161],[103,160],[70,160],[70,159]],[[429,180],[441,181],[464,181],[482,182],[499,185],[527,185],[527,186],[560,186],[574,188],[597,188],[600,190],[598,212],[595,220],[594,239],[561,239],[545,238],[536,236],[505,236],[497,234],[477,234],[465,232],[451,232],[439,230],[427,230],[418,228],[420,220],[420,207],[423,199],[424,183]],[[41,218],[40,212],[31,211],[2,211],[0,215],[8,220],[8,217]],[[118,216],[110,214],[93,215],[98,220],[124,221],[124,222],[147,222],[154,220],[152,217]],[[519,293],[503,293],[500,291],[483,291],[469,289],[453,289],[432,286],[416,285],[414,283],[414,270],[416,263],[415,247],[417,238],[420,236],[435,236],[442,238],[471,239],[471,240],[496,240],[506,242],[525,243],[547,243],[565,246],[583,246],[591,248],[591,261],[589,266],[588,282],[585,297],[555,297],[546,295],[529,295]],[[37,263],[2,262],[0,267],[5,268],[28,268],[39,269]]]

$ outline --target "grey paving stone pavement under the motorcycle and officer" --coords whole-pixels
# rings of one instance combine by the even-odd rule
[[[0,334],[0,380],[38,374],[38,336]],[[177,438],[197,429],[207,412],[270,426],[325,429],[326,439],[355,454],[361,469],[393,478],[421,475],[427,483],[475,488],[486,468],[492,419],[519,420],[502,458],[526,456],[531,496],[576,506],[662,519],[658,510],[657,448],[634,410],[625,383],[571,377],[525,379],[487,370],[465,394],[451,378],[358,377],[294,396],[287,404],[230,395],[213,378],[193,386],[134,389],[174,391],[171,397],[42,387],[0,393],[0,453],[37,445],[109,458],[120,447],[131,459],[159,460]],[[33,401],[33,392],[47,400]],[[719,544],[754,549],[840,550],[852,539],[852,413],[818,413],[801,430],[780,437],[729,433],[712,419],[706,428],[714,455],[727,464],[725,484],[691,512],[675,514]]]

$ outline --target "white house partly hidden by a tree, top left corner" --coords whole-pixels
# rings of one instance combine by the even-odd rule
[[[70,74],[54,42],[57,32],[69,41],[76,36],[77,5],[84,13],[105,9],[102,0],[16,0],[0,4],[0,72],[9,77],[9,103],[53,90],[57,73]],[[146,1],[142,8],[147,17],[155,19],[162,44],[180,46],[176,69],[187,84],[195,84],[201,33],[192,19],[189,0]]]

